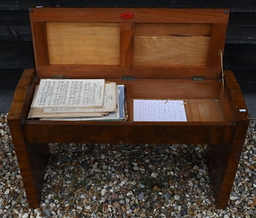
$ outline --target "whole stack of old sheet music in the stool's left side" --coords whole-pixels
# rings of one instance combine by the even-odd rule
[[[28,118],[124,120],[124,85],[104,79],[41,79],[35,88]]]

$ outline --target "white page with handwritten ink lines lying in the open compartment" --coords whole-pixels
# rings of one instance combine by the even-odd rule
[[[187,121],[183,101],[133,100],[134,121]]]

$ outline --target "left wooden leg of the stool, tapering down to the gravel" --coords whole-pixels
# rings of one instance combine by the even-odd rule
[[[28,204],[30,208],[38,208],[41,201],[49,146],[48,144],[26,143],[18,120],[9,121],[9,126]]]

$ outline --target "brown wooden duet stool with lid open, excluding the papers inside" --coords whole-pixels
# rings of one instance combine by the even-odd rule
[[[39,207],[48,143],[207,144],[215,201],[225,209],[249,116],[221,71],[229,10],[30,8],[36,69],[25,69],[8,122],[26,196]],[[127,121],[27,119],[40,78],[126,85]],[[134,122],[134,99],[187,102],[187,122]]]

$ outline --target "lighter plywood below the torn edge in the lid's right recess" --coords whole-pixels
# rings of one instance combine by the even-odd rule
[[[211,37],[135,37],[136,65],[206,65]]]

